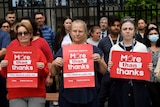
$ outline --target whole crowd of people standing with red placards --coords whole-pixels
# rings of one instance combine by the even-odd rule
[[[60,32],[53,32],[45,21],[42,12],[16,20],[14,11],[0,21],[0,106],[49,107],[46,93],[59,92],[59,107],[105,107],[106,101],[108,107],[159,107],[160,31],[156,23],[109,16],[88,30],[85,21],[66,16]],[[128,62],[117,65],[118,52],[129,54],[128,59],[121,54],[121,60]],[[150,55],[149,62],[143,64],[145,56],[135,58],[135,54]],[[122,68],[127,75],[139,70],[142,59],[141,76],[113,75]],[[23,84],[17,82],[21,79]],[[32,85],[25,80],[32,80]]]

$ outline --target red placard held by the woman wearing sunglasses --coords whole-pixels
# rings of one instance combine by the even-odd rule
[[[36,47],[8,47],[7,88],[36,88]]]

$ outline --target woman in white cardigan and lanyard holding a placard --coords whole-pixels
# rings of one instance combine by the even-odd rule
[[[135,23],[131,19],[132,18],[125,18],[121,23],[123,41],[111,48],[108,63],[109,71],[114,64],[111,61],[112,51],[147,52],[145,45],[133,39],[135,35]],[[151,70],[152,65],[149,64],[148,67]],[[146,81],[111,78],[109,90],[109,107],[151,107]]]

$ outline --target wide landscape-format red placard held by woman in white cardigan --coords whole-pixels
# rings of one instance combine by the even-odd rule
[[[150,80],[148,64],[151,63],[149,52],[112,51],[112,78]]]

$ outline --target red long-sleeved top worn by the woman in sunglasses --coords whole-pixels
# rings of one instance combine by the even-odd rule
[[[38,53],[36,55],[36,58],[34,58],[34,61],[43,62],[45,64],[44,69],[38,69],[38,87],[37,88],[8,88],[9,100],[15,99],[15,98],[24,98],[24,97],[45,97],[46,96],[45,80],[49,74],[47,60],[43,52],[39,48],[34,47],[34,49]],[[8,60],[9,56],[10,54],[6,53],[4,59]],[[4,77],[6,77],[7,67],[1,68],[1,74]]]

